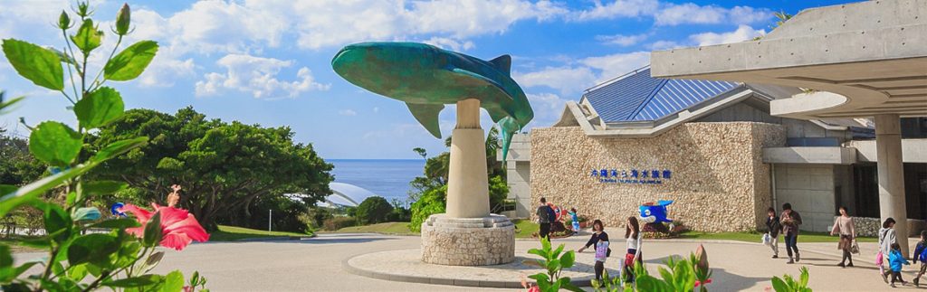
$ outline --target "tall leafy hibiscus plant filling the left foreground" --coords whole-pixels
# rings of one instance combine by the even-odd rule
[[[85,178],[85,174],[104,161],[147,142],[146,137],[129,137],[106,146],[87,146],[93,131],[121,119],[124,113],[120,93],[104,85],[107,82],[131,81],[142,74],[158,52],[158,44],[139,41],[119,51],[123,37],[132,31],[131,10],[128,5],[123,5],[111,29],[117,37],[116,44],[102,69],[92,74],[87,60],[103,44],[104,32],[98,28],[100,22],[92,19],[94,11],[87,2],[78,3],[74,14],[79,19],[71,20],[66,11],[62,11],[58,18],[57,28],[65,39],[61,50],[16,39],[3,40],[6,59],[20,76],[61,93],[70,102],[69,108],[77,119],[77,128],[60,121],[43,121],[29,127],[32,130],[30,152],[36,159],[48,164],[53,174],[21,187],[0,185],[0,216],[19,208],[39,209],[43,213],[46,235],[19,239],[17,243],[48,252],[44,258],[15,266],[10,248],[0,245],[0,288],[6,291],[90,291],[101,287],[125,291],[179,291],[202,288],[206,281],[198,274],[190,279],[189,286],[184,287],[184,275],[180,271],[166,275],[148,273],[164,256],[164,252],[156,248],[165,236],[161,222],[164,220],[165,224],[170,224],[171,216],[162,217],[160,212],[154,213],[143,226],[132,218],[101,221],[101,212],[89,207],[92,197],[108,196],[124,189],[126,184],[91,181]],[[70,88],[65,83],[65,69]],[[0,101],[0,110],[13,101]],[[46,202],[41,199],[46,193],[64,197],[65,202],[61,205]],[[126,231],[129,228],[140,228],[144,235],[132,235]],[[90,229],[109,231],[91,233],[88,232]],[[33,267],[39,268],[33,270],[38,273],[24,275]]]

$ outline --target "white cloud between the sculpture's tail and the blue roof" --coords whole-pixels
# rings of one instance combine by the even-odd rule
[[[586,67],[547,67],[528,73],[514,72],[513,78],[525,87],[547,86],[569,95],[594,85],[596,76]]]

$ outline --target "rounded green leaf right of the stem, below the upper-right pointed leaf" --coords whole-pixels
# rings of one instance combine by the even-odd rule
[[[116,121],[125,113],[125,105],[118,91],[100,87],[74,105],[77,121],[84,129],[95,129]]]

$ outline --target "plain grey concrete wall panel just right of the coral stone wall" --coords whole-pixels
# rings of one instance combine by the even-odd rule
[[[836,211],[834,166],[819,164],[776,165],[776,209],[792,204],[802,215],[802,230],[827,232]]]

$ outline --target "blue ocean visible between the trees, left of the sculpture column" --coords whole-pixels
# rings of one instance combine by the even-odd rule
[[[409,182],[422,176],[425,159],[325,159],[335,165],[335,182],[360,186],[392,202],[409,197]]]

